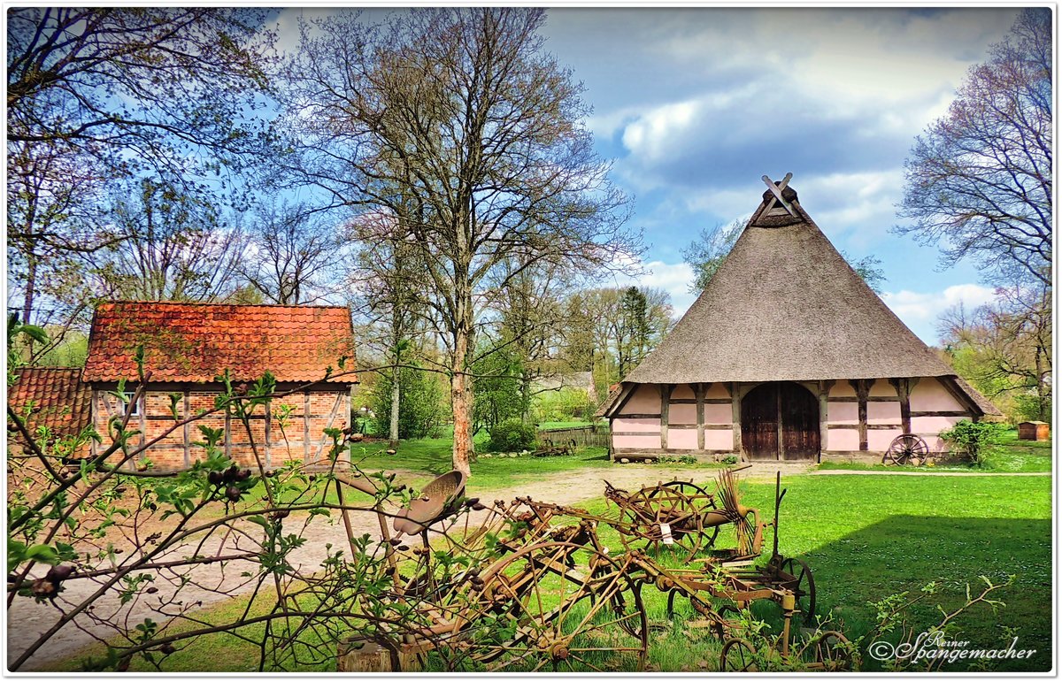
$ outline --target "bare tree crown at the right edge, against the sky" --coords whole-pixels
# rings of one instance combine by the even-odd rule
[[[900,206],[912,222],[896,231],[943,242],[947,265],[970,256],[1005,284],[1018,269],[1050,286],[1050,10],[1023,11],[989,54],[917,139]]]

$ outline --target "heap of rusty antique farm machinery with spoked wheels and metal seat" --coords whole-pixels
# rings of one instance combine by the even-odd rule
[[[344,482],[370,492],[364,481]],[[751,602],[781,607],[783,631],[772,647],[782,655],[790,655],[792,617],[813,614],[810,570],[778,553],[776,532],[771,559],[754,566],[769,524],[740,504],[733,471],[720,474],[716,494],[672,481],[624,497],[606,484],[617,516],[530,498],[485,506],[465,499],[463,487],[456,472],[429,483],[393,515],[394,538],[377,508],[394,590],[381,599],[366,597],[363,608],[402,625],[380,628],[350,646],[375,646],[391,669],[413,659],[423,666],[432,657],[446,669],[641,669],[650,632],[645,585],[668,594],[669,615],[678,600],[689,602],[697,617],[688,625],[708,628],[725,643],[723,669],[751,669],[759,660],[746,655],[758,652],[735,636],[742,633],[741,610]],[[778,480],[775,529],[784,494]],[[734,526],[737,546],[717,549],[725,525]],[[602,527],[615,529],[627,551],[610,552],[598,532]],[[419,535],[421,546],[408,547],[402,535]],[[685,560],[701,547],[707,553],[695,560],[697,567],[665,567],[652,551],[672,544],[683,548]],[[841,635],[829,636],[834,642]],[[837,648],[824,642],[816,650]],[[827,659],[809,665],[833,667]]]

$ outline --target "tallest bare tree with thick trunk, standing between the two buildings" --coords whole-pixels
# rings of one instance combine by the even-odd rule
[[[390,210],[421,251],[465,473],[490,275],[514,258],[607,268],[630,248],[626,199],[581,122],[580,86],[543,50],[544,20],[515,7],[413,10],[380,28],[335,16],[303,25],[286,66],[292,170],[336,205]]]

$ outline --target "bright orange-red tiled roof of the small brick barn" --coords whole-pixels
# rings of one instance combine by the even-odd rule
[[[354,370],[346,308],[117,302],[96,309],[82,380],[135,380],[140,344],[152,381],[209,382],[226,369],[240,381],[267,371],[277,381],[314,381],[328,366],[333,374]],[[341,356],[347,358],[343,370]]]

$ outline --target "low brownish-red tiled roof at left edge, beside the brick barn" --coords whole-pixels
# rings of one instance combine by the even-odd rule
[[[25,417],[31,433],[47,426],[57,436],[70,436],[89,425],[91,392],[81,382],[81,368],[22,368],[16,373],[7,405]]]

